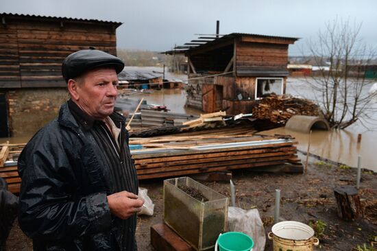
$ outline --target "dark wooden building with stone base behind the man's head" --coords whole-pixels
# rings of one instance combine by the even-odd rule
[[[0,20],[0,137],[32,134],[56,117],[68,97],[61,67],[70,53],[117,53],[121,23],[7,13]]]

